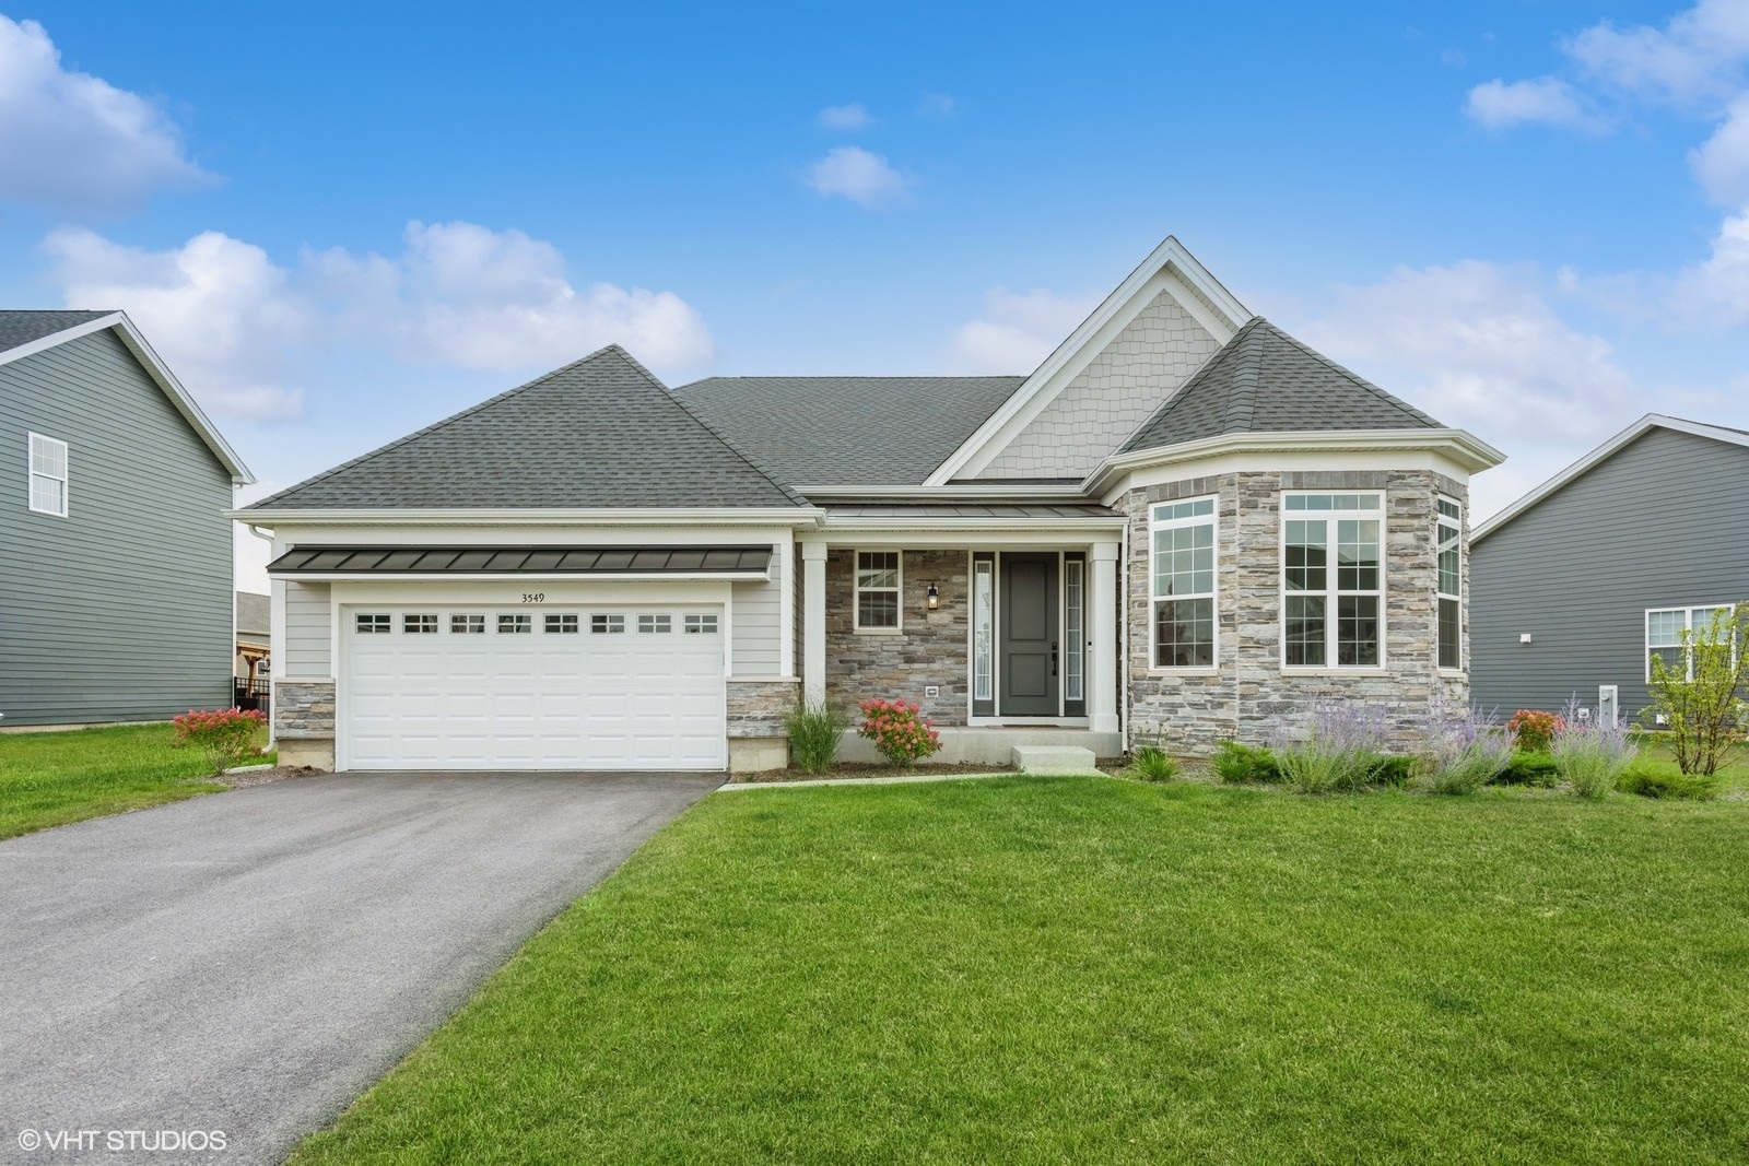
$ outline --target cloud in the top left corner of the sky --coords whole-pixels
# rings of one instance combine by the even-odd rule
[[[163,110],[65,70],[42,24],[0,16],[0,198],[114,212],[210,182]]]

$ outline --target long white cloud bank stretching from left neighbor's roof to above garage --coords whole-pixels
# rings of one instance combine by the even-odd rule
[[[58,231],[44,250],[68,306],[128,311],[217,414],[296,416],[296,367],[331,339],[409,364],[502,372],[537,372],[609,343],[668,372],[701,371],[714,357],[703,318],[673,292],[577,288],[551,243],[469,222],[411,222],[401,255],[332,248],[306,252],[292,269],[217,231],[163,252]]]

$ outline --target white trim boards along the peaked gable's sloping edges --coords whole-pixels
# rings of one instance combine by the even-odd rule
[[[983,470],[1160,292],[1170,292],[1221,344],[1251,318],[1251,309],[1168,234],[923,484],[943,486]]]

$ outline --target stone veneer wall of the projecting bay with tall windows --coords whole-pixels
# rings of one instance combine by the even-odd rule
[[[1282,670],[1280,502],[1284,489],[1383,491],[1385,666],[1369,671]],[[1216,668],[1151,668],[1149,505],[1216,495]],[[1425,724],[1431,704],[1467,708],[1467,673],[1441,671],[1436,635],[1436,503],[1445,495],[1464,507],[1462,659],[1469,661],[1469,491],[1431,470],[1238,472],[1196,477],[1125,495],[1130,517],[1126,556],[1130,739],[1156,732],[1175,753],[1210,753],[1224,739],[1266,743],[1310,718],[1324,699],[1361,699],[1392,710],[1404,745]]]

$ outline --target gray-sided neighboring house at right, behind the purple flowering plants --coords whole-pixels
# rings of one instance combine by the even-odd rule
[[[1749,432],[1649,414],[1471,537],[1471,692],[1634,720],[1651,657],[1749,600]]]

